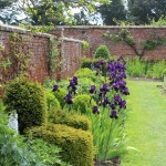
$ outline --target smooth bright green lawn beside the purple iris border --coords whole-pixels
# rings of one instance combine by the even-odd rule
[[[166,95],[160,82],[129,81],[132,112],[126,122],[129,151],[121,166],[166,166]]]

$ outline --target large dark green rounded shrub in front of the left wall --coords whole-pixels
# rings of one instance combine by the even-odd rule
[[[21,134],[27,127],[45,123],[46,101],[41,85],[17,77],[7,85],[3,101],[7,111],[17,111]]]

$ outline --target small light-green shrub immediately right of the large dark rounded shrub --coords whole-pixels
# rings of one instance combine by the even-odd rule
[[[60,102],[55,98],[53,92],[48,90],[45,94],[46,94],[48,111],[60,108]]]

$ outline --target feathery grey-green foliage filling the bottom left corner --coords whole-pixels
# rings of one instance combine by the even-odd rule
[[[8,116],[0,110],[0,166],[68,165],[60,159],[59,147],[40,139],[25,139],[7,124]]]

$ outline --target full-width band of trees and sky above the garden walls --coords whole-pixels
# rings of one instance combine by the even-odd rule
[[[166,18],[166,0],[0,0],[0,20],[9,24],[32,25],[104,24],[127,21],[132,24],[149,24],[152,20]],[[73,11],[77,11],[76,13]]]

